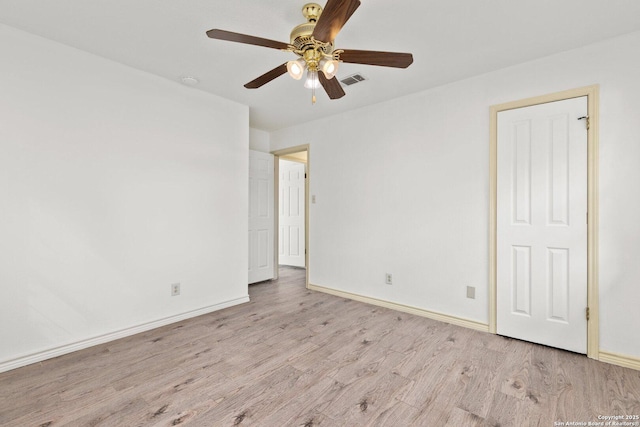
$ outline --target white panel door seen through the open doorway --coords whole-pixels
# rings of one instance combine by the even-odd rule
[[[280,160],[278,263],[305,266],[304,163]]]

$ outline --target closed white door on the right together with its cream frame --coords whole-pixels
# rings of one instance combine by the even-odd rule
[[[491,107],[489,213],[490,331],[596,359],[597,101],[598,87],[590,86]],[[572,103],[582,113],[569,118],[561,110]],[[536,114],[544,117],[537,125]],[[549,142],[554,126],[560,136],[582,129],[582,151],[562,138]],[[541,148],[534,147],[535,132]],[[574,164],[567,156],[577,156]],[[565,194],[570,179],[582,180],[583,193]],[[577,204],[563,205],[569,199]]]

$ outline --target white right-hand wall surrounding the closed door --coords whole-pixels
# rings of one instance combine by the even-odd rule
[[[600,348],[640,357],[638,52],[633,33],[272,133],[311,144],[311,283],[487,323],[489,106],[600,84]]]

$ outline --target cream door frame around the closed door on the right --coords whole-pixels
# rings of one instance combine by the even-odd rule
[[[489,332],[497,328],[497,146],[498,113],[515,108],[530,107],[565,99],[587,97],[587,356],[599,359],[599,300],[598,300],[598,128],[599,85],[585,86],[562,92],[536,96],[490,107],[489,129]]]

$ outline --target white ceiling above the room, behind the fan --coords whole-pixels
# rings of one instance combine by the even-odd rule
[[[311,105],[284,75],[243,84],[293,59],[275,49],[212,40],[212,28],[289,42],[304,0],[0,0],[0,22],[250,106],[274,130],[640,30],[638,0],[362,0],[337,48],[411,52],[407,69],[341,64],[369,80]],[[319,2],[324,6],[325,1]],[[638,52],[630,54],[637,55]]]

